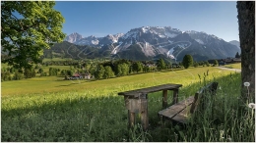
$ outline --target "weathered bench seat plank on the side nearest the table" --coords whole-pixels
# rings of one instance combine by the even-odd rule
[[[160,111],[159,115],[167,119],[172,119],[180,112],[182,112],[184,109],[186,109],[186,107],[190,106],[193,103],[193,101],[194,96],[190,96],[189,98]]]

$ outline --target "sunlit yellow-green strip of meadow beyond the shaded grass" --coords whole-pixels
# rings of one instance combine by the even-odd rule
[[[52,66],[53,67],[53,66]],[[61,67],[61,66],[59,66]],[[59,68],[56,66],[55,68]],[[45,69],[44,69],[45,68]],[[49,67],[43,67],[47,71]],[[61,69],[69,67],[61,67]],[[153,86],[163,83],[178,83],[187,86],[190,83],[199,81],[198,74],[210,71],[212,77],[229,73],[230,71],[222,71],[216,68],[191,68],[183,71],[156,71],[149,73],[141,73],[117,78],[102,79],[97,81],[89,80],[63,80],[64,77],[42,76],[18,81],[2,82],[2,96],[23,95],[29,93],[43,92],[66,92],[66,91],[91,91],[94,89],[104,89],[112,91],[121,91],[118,88],[123,85],[127,86],[127,90],[146,86]],[[201,75],[202,78],[202,75]],[[109,84],[110,83],[110,84]],[[124,90],[124,89],[123,89]]]

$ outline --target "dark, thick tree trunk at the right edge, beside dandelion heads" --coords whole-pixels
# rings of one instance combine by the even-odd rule
[[[241,47],[242,99],[255,103],[255,2],[237,1],[239,39]]]

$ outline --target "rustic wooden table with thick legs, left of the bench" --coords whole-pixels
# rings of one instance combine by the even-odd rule
[[[130,90],[125,92],[119,92],[118,95],[124,96],[125,107],[128,110],[128,123],[129,127],[135,124],[135,114],[141,114],[141,121],[143,129],[147,130],[149,127],[148,117],[148,94],[152,92],[162,91],[162,107],[167,107],[167,91],[173,91],[172,104],[178,102],[178,89],[181,84],[163,84],[148,88]]]

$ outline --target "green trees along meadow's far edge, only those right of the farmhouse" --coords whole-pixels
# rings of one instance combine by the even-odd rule
[[[218,61],[215,61],[214,65],[218,65]],[[180,67],[187,69],[188,67],[207,66],[210,67],[208,61],[205,62],[193,62],[193,57],[191,55],[185,55],[182,63],[179,63]],[[98,64],[96,69],[92,71],[96,79],[100,78],[110,78],[114,76],[124,76],[131,73],[138,72],[149,72],[149,71],[161,71],[172,68],[167,65],[162,59],[159,59],[157,63],[154,62],[134,62],[129,60],[118,60],[115,62],[105,62]]]

